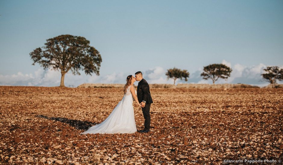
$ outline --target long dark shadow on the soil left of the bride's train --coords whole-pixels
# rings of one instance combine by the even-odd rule
[[[36,117],[44,118],[44,119],[49,119],[49,120],[54,120],[54,121],[59,121],[62,123],[66,123],[72,127],[75,127],[76,129],[79,130],[87,130],[89,127],[96,125],[97,123],[93,122],[87,122],[87,121],[80,121],[80,120],[71,120],[67,118],[60,118],[60,117],[48,117],[44,115],[36,115]]]

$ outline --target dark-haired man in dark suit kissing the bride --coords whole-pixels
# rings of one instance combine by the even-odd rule
[[[145,79],[143,79],[141,71],[135,73],[135,79],[139,81],[137,96],[138,96],[138,102],[141,104],[142,113],[145,118],[145,128],[139,132],[145,133],[148,132],[150,128],[149,110],[150,110],[150,104],[153,103],[153,101],[151,99],[148,82],[146,82]]]

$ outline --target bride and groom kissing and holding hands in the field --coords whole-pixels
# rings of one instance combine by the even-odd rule
[[[142,77],[142,72],[127,76],[124,86],[124,96],[117,106],[112,110],[110,115],[100,124],[90,127],[87,131],[81,134],[132,134],[137,132],[135,124],[135,114],[133,101],[141,108],[145,118],[145,128],[139,130],[140,133],[149,132],[150,128],[150,105],[153,103],[148,82]],[[134,82],[138,82],[137,90],[134,88]]]

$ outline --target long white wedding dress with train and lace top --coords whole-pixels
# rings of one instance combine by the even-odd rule
[[[132,134],[137,131],[133,107],[133,97],[130,91],[131,85],[127,88],[122,100],[113,109],[110,115],[100,124],[90,127],[81,134]],[[137,91],[135,90],[135,95]]]

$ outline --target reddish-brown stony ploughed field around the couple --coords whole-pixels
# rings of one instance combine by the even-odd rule
[[[151,130],[80,135],[122,88],[0,86],[0,164],[221,164],[279,158],[282,88],[152,88]],[[142,110],[134,105],[138,129]]]

